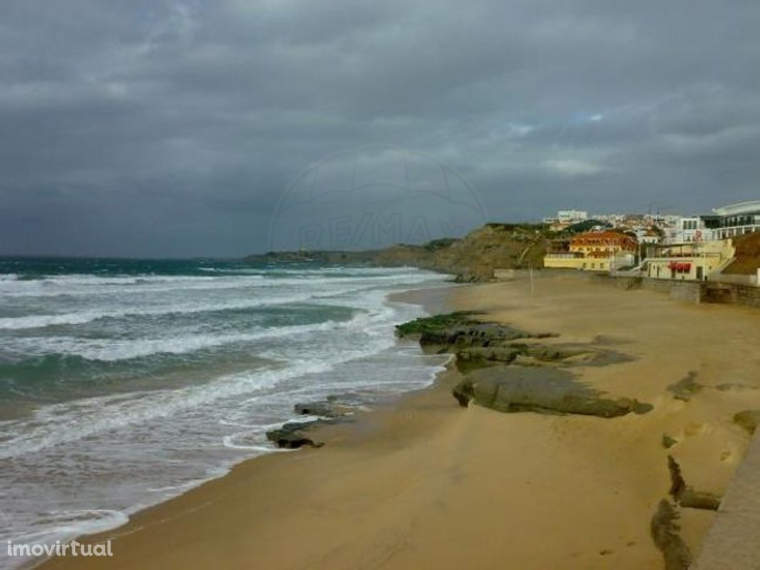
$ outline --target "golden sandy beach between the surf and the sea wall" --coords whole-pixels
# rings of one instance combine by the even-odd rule
[[[88,539],[114,539],[112,559],[43,568],[663,568],[650,521],[670,487],[668,454],[689,485],[723,492],[749,443],[732,417],[760,409],[758,314],[577,274],[543,274],[533,294],[525,279],[455,288],[449,302],[561,335],[547,342],[632,356],[573,372],[654,410],[608,420],[464,409],[450,370],[321,428],[323,448],[248,461]],[[673,397],[667,387],[692,372],[705,387]],[[692,553],[713,518],[683,509]]]

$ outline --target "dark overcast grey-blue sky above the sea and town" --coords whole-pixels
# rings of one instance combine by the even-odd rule
[[[757,0],[3,0],[0,255],[760,198]]]

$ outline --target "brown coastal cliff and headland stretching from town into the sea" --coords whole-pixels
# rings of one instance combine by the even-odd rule
[[[489,223],[462,239],[436,239],[425,245],[392,245],[366,251],[268,252],[249,263],[348,263],[377,267],[411,265],[454,274],[458,280],[486,281],[495,269],[543,267],[548,238],[544,226]]]

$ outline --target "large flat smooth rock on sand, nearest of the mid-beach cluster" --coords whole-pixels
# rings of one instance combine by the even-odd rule
[[[452,391],[463,407],[470,401],[500,412],[579,414],[613,418],[646,413],[650,404],[627,397],[611,400],[575,382],[572,374],[555,368],[493,366],[471,372]]]

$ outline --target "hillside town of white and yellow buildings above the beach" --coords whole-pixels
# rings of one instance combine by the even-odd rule
[[[559,211],[543,220],[558,236],[545,268],[606,271],[651,279],[760,283],[760,201],[711,214]]]

